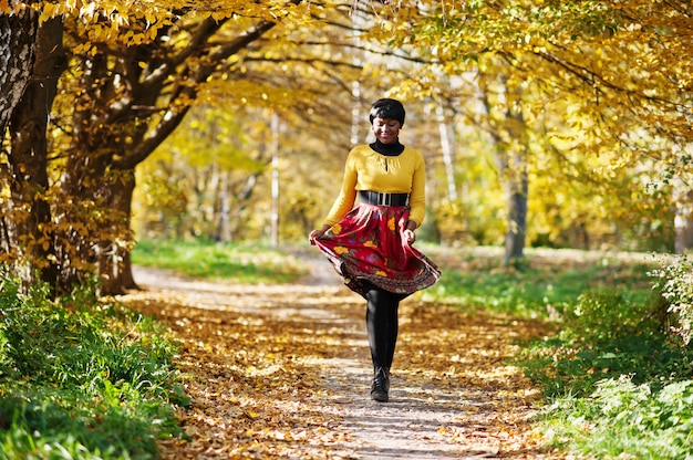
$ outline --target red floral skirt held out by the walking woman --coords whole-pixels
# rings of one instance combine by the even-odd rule
[[[316,240],[344,284],[365,297],[370,285],[402,299],[433,285],[441,271],[402,238],[406,206],[359,205]]]

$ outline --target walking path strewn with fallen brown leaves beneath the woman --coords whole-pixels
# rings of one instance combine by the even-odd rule
[[[538,395],[507,363],[531,322],[420,299],[401,307],[391,401],[369,399],[363,300],[327,261],[293,285],[229,285],[136,269],[122,296],[180,342],[192,404],[166,459],[540,459]]]

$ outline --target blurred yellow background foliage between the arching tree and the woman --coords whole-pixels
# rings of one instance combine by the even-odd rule
[[[354,55],[373,62],[379,46],[353,39],[358,32],[351,30],[348,13],[332,11],[327,20],[330,27],[320,36],[309,28],[298,28],[291,31],[289,43],[263,40],[262,55],[245,58],[242,81],[205,85],[184,129],[138,168],[142,191],[152,194],[138,195],[143,201],[138,213],[158,213],[138,220],[141,234],[161,234],[157,231],[165,228],[168,232],[163,234],[217,241],[267,238],[272,206],[269,180],[278,168],[281,238],[304,240],[333,198],[334,175],[341,174],[351,146],[346,126],[352,123],[353,106],[361,104],[360,98],[382,94],[375,84],[379,79],[360,96],[349,94],[363,79],[362,64]],[[275,118],[279,121],[277,134]],[[361,111],[358,118],[361,132],[355,135],[365,137],[368,116]],[[275,148],[279,149],[278,164],[270,166]],[[321,185],[329,188],[319,189]],[[167,192],[174,199],[167,200]],[[159,203],[167,206],[157,212]]]

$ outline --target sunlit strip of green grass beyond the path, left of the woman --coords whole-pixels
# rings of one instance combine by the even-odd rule
[[[142,240],[132,261],[192,278],[246,284],[289,283],[307,273],[296,258],[279,250],[213,241]]]

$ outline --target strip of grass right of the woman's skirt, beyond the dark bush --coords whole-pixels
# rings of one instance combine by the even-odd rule
[[[500,252],[488,249],[426,248],[439,255],[443,276],[426,296],[465,309],[488,309],[520,316],[562,314],[586,291],[619,292],[628,302],[647,303],[652,295],[645,261],[617,257],[586,258],[576,251],[529,255],[520,266],[504,266]],[[579,258],[579,259],[578,259]],[[577,260],[576,260],[577,259]],[[437,260],[436,260],[437,261]]]

